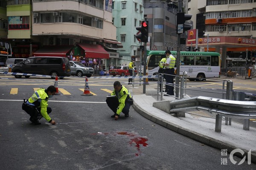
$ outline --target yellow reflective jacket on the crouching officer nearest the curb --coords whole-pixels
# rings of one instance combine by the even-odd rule
[[[121,85],[122,86],[122,85]],[[120,115],[120,113],[122,112],[122,109],[125,107],[125,101],[127,101],[128,99],[131,98],[131,94],[130,92],[127,90],[127,88],[125,88],[124,86],[122,86],[121,90],[118,92],[118,94],[116,93],[115,90],[113,90],[113,92],[111,93],[111,96],[116,96],[116,98],[118,99],[119,102],[119,106],[117,108],[116,114]],[[118,95],[118,96],[117,96]]]

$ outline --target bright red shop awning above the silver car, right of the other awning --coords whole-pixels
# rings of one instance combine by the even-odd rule
[[[101,45],[77,44],[85,51],[85,58],[104,58],[109,59],[108,52]]]

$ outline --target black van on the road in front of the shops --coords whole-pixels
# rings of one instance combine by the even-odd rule
[[[14,73],[50,75],[63,78],[71,76],[70,62],[67,57],[29,57],[12,67]],[[21,78],[21,75],[15,75]],[[25,76],[30,77],[30,76]]]

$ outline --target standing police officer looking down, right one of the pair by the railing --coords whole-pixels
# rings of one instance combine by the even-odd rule
[[[169,85],[166,85],[166,88],[167,88],[167,94],[168,95],[174,95],[174,84],[173,84],[173,79],[174,79],[174,66],[175,66],[175,61],[176,61],[176,58],[172,56],[171,54],[171,51],[170,50],[166,50],[165,51],[165,54],[166,54],[166,63],[164,64],[164,66],[166,67],[166,83],[169,84]],[[172,86],[171,86],[172,85]],[[165,95],[164,96],[168,96],[168,95]]]

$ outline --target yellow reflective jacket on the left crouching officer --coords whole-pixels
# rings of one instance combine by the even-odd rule
[[[51,121],[50,116],[47,113],[47,106],[48,106],[48,99],[49,96],[45,92],[44,88],[39,88],[35,93],[29,98],[29,103],[34,103],[38,101],[40,103],[41,107],[41,115],[46,119],[48,122]],[[38,105],[35,105],[36,107],[39,107]]]

